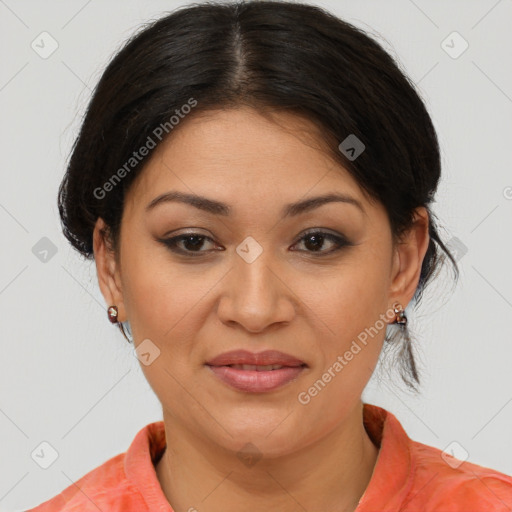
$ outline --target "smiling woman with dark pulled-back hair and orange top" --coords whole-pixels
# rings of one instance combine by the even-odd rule
[[[135,35],[59,211],[163,421],[32,510],[511,510],[512,477],[361,401],[386,346],[419,384],[405,309],[441,250],[457,270],[439,179],[408,78],[318,7],[205,3]]]

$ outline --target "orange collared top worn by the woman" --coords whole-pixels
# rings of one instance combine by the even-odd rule
[[[512,511],[511,476],[413,441],[376,405],[364,404],[363,421],[379,455],[355,512]],[[27,512],[173,512],[155,471],[164,448],[163,421],[150,423],[125,453]]]

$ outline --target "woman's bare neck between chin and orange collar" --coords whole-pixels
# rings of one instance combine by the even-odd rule
[[[370,482],[378,449],[363,426],[363,404],[323,438],[291,454],[242,464],[164,413],[167,447],[156,466],[176,511],[352,512]]]

